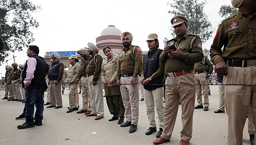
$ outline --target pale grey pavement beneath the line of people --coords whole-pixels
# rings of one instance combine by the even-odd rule
[[[194,110],[193,137],[190,145],[227,145],[227,114],[214,114],[219,106],[218,86],[210,86],[212,95],[209,96],[209,111],[203,109]],[[46,108],[44,106],[44,119],[42,126],[19,130],[25,120],[15,120],[24,107],[24,103],[16,101],[0,100],[0,144],[1,145],[153,145],[155,135],[145,135],[149,128],[146,114],[145,101],[140,101],[140,114],[138,129],[135,133],[129,133],[130,127],[121,128],[117,121],[109,122],[112,117],[109,113],[106,99],[104,99],[105,116],[95,121],[95,116],[86,117],[84,114],[69,114],[66,107],[69,106],[68,90],[65,90],[63,107],[60,109]],[[4,90],[0,90],[0,98],[3,98]],[[82,106],[81,94],[79,94],[80,109]],[[46,100],[46,98],[45,98]],[[197,105],[197,101],[195,106]],[[157,114],[156,114],[157,117]],[[80,118],[80,119],[79,119]],[[125,120],[126,121],[126,120]],[[158,119],[156,118],[158,123]],[[178,145],[180,142],[181,106],[177,115],[175,128],[170,142],[163,145]],[[159,130],[157,125],[157,130]],[[97,132],[96,135],[92,134]],[[68,140],[65,140],[69,138]],[[247,131],[247,121],[244,127],[244,145],[250,145]]]

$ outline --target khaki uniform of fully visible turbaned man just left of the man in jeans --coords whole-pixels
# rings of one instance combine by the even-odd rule
[[[15,83],[16,82],[15,80],[18,80],[20,78],[21,70],[16,68],[16,69],[13,69],[11,71],[11,73],[12,73],[12,77],[11,77],[12,90],[13,90],[13,93],[14,93],[14,97],[15,97],[15,99],[22,100],[22,95],[21,95],[21,92],[20,92],[20,82]]]

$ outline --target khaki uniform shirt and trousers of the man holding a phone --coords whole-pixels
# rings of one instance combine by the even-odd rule
[[[194,42],[192,41],[194,39]],[[192,45],[191,45],[191,42]],[[162,138],[170,140],[175,125],[179,102],[182,105],[182,131],[181,139],[190,141],[192,138],[193,114],[195,90],[194,81],[194,63],[203,58],[201,40],[199,36],[185,34],[179,41],[177,37],[167,41],[166,45],[174,44],[180,49],[178,58],[173,58],[170,54],[162,53],[160,56],[161,63],[165,64],[165,71],[169,75],[165,80],[165,111],[163,119]],[[185,75],[171,77],[179,71],[190,71]],[[169,86],[168,84],[176,84],[177,86]],[[191,86],[190,86],[191,85]]]

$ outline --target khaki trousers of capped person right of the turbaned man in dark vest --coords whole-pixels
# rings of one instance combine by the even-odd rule
[[[69,84],[69,109],[73,108],[78,108],[77,104],[77,98],[79,97],[78,95],[78,90],[77,87],[79,84]]]

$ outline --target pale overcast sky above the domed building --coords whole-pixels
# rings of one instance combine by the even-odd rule
[[[173,15],[167,12],[170,0],[31,0],[41,5],[42,10],[33,14],[39,27],[32,29],[35,41],[30,45],[39,47],[39,56],[44,57],[49,51],[76,51],[88,47],[88,42],[96,44],[101,31],[114,25],[120,31],[129,31],[133,35],[133,45],[148,51],[145,40],[148,34],[158,34],[160,48],[164,48],[163,39],[171,39],[169,27]],[[199,0],[201,1],[201,0]],[[207,0],[204,11],[212,22],[214,33],[203,49],[210,49],[219,22],[219,7],[231,5],[230,0]],[[16,63],[24,64],[28,59],[27,48],[14,54]],[[9,60],[11,57],[6,58]],[[14,62],[8,61],[8,65]],[[0,66],[0,73],[5,74],[5,64]]]

